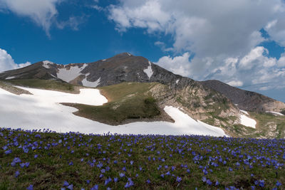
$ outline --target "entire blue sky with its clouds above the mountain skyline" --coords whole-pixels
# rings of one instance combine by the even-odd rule
[[[281,0],[0,0],[0,71],[129,52],[285,102],[284,20]]]

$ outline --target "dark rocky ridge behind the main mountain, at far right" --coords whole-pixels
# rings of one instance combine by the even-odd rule
[[[279,102],[265,95],[259,93],[242,90],[232,87],[219,80],[207,80],[200,82],[213,90],[217,90],[229,98],[234,104],[237,104],[242,110],[255,111],[255,112],[281,112],[285,109],[284,102]]]

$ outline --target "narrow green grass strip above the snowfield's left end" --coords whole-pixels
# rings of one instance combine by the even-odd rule
[[[65,83],[58,80],[41,80],[41,79],[22,79],[22,80],[9,80],[13,85],[20,85],[30,88],[41,88],[46,90],[58,90],[68,93],[75,91],[74,85]]]

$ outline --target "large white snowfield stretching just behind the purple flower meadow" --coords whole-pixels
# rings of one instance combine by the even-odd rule
[[[18,87],[22,88],[22,87]],[[81,89],[80,94],[52,90],[22,88],[33,95],[14,95],[0,88],[0,125],[24,130],[48,128],[56,132],[118,133],[118,134],[204,134],[225,136],[222,129],[193,120],[179,108],[167,106],[165,112],[175,120],[170,122],[133,122],[111,126],[73,115],[76,108],[59,102],[103,105],[107,99],[97,89]]]

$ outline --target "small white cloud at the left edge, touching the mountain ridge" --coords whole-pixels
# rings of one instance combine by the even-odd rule
[[[30,62],[16,64],[14,59],[7,53],[4,49],[0,48],[0,72],[5,70],[12,70],[16,68],[23,68],[28,65],[31,65]]]

